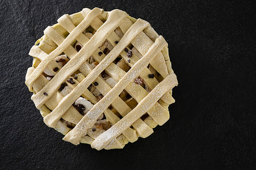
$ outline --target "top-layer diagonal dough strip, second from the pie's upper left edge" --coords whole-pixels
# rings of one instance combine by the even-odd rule
[[[121,16],[117,17],[116,15],[118,14]],[[33,100],[37,108],[40,108],[40,106],[43,105],[50,98],[50,96],[60,87],[60,84],[65,82],[65,80],[67,80],[70,75],[72,75],[77,69],[79,69],[79,67],[81,67],[82,63],[86,61],[94,53],[97,47],[104,41],[104,39],[108,37],[108,35],[116,27],[118,27],[119,23],[126,15],[127,14],[123,11],[118,12],[117,10],[113,10],[110,12],[108,20],[106,20],[104,25],[102,25],[102,27],[90,39],[90,41],[81,48],[77,55],[74,56],[65,66],[63,66],[54,76],[54,78],[40,92],[32,96],[31,99]],[[51,27],[49,27],[49,29],[51,29]],[[65,44],[65,42],[63,42],[62,44]],[[68,47],[70,46],[70,44],[65,44],[65,46]],[[44,92],[47,92],[48,95],[44,95]]]

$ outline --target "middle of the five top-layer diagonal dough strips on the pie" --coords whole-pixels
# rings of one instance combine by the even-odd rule
[[[105,22],[106,23],[106,22]],[[95,69],[84,79],[71,93],[69,93],[59,105],[52,111],[51,114],[44,118],[44,122],[47,126],[54,128],[57,120],[68,110],[68,108],[76,101],[76,99],[81,95],[81,93],[89,87],[89,85],[99,76],[99,74],[106,68],[110,63],[112,63],[116,57],[123,51],[124,47],[127,46],[132,39],[138,35],[144,28],[148,27],[149,23],[144,20],[139,20],[134,23],[129,31],[126,32],[123,39],[118,43],[116,47],[105,57],[102,62],[100,62]],[[97,33],[96,33],[97,34]],[[91,41],[91,40],[90,40]],[[89,41],[89,42],[90,42]],[[83,47],[84,48],[84,47]],[[82,49],[83,49],[82,48]],[[80,51],[79,51],[80,52]],[[70,60],[72,61],[72,59]],[[69,61],[69,62],[70,62]],[[68,62],[68,63],[69,63]],[[66,65],[65,65],[66,66]],[[64,67],[65,67],[64,66]],[[63,67],[63,68],[64,68]],[[62,69],[63,69],[62,68]],[[61,69],[61,70],[62,70]],[[60,70],[60,71],[61,71]],[[60,72],[59,71],[59,72]],[[58,73],[59,73],[58,72]],[[58,75],[58,74],[57,74]],[[53,78],[54,79],[54,78]],[[51,80],[52,82],[53,80]],[[51,83],[50,82],[50,83]]]

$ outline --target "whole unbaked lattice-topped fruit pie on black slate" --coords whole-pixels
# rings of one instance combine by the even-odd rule
[[[47,126],[73,144],[118,149],[169,119],[178,85],[167,42],[145,20],[88,8],[32,46],[26,85]]]

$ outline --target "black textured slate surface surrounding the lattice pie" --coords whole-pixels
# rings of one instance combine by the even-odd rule
[[[75,146],[48,128],[30,100],[30,47],[63,14],[121,9],[169,44],[179,80],[170,120],[123,150]],[[254,1],[0,2],[3,169],[255,169]]]

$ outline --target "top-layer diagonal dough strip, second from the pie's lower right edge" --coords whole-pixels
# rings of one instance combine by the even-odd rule
[[[121,43],[123,39],[121,39],[119,43]],[[94,107],[85,116],[83,116],[81,121],[63,138],[63,140],[69,141],[76,145],[79,144],[81,136],[94,125],[100,114],[109,107],[115,98],[122,92],[125,86],[127,86],[129,82],[134,80],[140,74],[140,72],[150,63],[150,61],[152,61],[152,59],[163,49],[164,46],[167,46],[167,42],[162,36],[159,36],[146,55],[143,56],[143,58],[140,59],[134,65],[134,67],[127,72],[127,74],[115,85],[114,88],[112,88],[108,94],[104,96],[102,100],[95,104]]]

